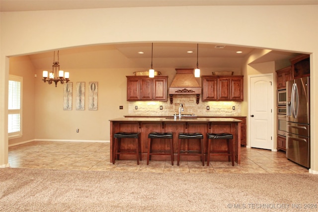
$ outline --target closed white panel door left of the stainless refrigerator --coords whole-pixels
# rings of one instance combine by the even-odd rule
[[[249,79],[250,146],[273,150],[273,74],[252,75]]]

